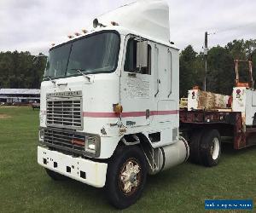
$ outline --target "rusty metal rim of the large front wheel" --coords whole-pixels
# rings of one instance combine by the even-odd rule
[[[134,158],[128,159],[119,173],[119,187],[121,191],[130,196],[137,191],[142,179],[140,165]]]

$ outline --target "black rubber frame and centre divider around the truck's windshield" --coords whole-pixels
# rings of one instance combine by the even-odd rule
[[[96,36],[96,35],[99,35],[99,34],[103,34],[103,33],[108,33],[108,32],[112,32],[112,33],[114,33],[114,34],[116,34],[118,36],[118,41],[117,41],[118,42],[117,58],[116,58],[116,61],[114,63],[114,67],[110,71],[92,72],[92,73],[87,73],[87,74],[96,75],[96,74],[102,74],[102,73],[112,73],[112,72],[115,72],[117,67],[118,67],[118,64],[119,64],[119,55],[120,55],[120,46],[121,46],[121,36],[120,36],[119,32],[117,32],[116,30],[102,30],[100,32],[93,32],[93,33],[90,33],[89,35],[84,35],[82,37],[77,37],[77,38],[74,38],[73,40],[67,41],[65,43],[58,44],[58,45],[50,48],[49,52],[51,50],[53,50],[53,49],[57,49],[57,48],[60,48],[61,46],[64,46],[64,45],[67,45],[67,44],[71,43],[71,47],[70,47],[70,51],[69,51],[69,55],[68,55],[68,60],[67,60],[67,65],[68,65],[69,57],[71,55],[74,42],[82,40],[82,39],[87,38],[87,37],[93,37],[93,36]],[[48,60],[47,60],[47,62],[48,62]],[[79,68],[83,68],[83,67],[79,67]],[[45,73],[46,73],[45,71],[46,71],[46,67],[44,69],[43,81],[49,81],[49,78],[47,78],[47,75],[45,75]],[[84,75],[87,75],[87,74],[86,74],[86,72],[84,72]],[[77,74],[73,74],[73,75],[67,76],[67,68],[66,68],[64,76],[57,77],[57,78],[55,78],[55,77],[50,77],[50,78],[52,78],[52,79],[60,79],[60,78],[72,78],[72,77],[77,77],[77,76],[82,76],[82,74],[78,72]]]

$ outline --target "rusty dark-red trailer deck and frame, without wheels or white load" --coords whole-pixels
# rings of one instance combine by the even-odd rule
[[[191,135],[196,130],[215,129],[224,141],[231,139],[234,149],[256,145],[256,126],[244,127],[242,119],[241,112],[188,111],[187,109],[179,111],[182,132]]]

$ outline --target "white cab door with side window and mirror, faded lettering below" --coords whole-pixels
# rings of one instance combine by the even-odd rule
[[[139,50],[140,44],[147,49]],[[141,37],[126,37],[120,78],[120,104],[123,107],[121,120],[126,127],[145,126],[151,123],[151,45],[152,43]],[[146,64],[138,61],[143,57],[147,59]]]

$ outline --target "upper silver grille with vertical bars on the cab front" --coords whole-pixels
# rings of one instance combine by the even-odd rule
[[[48,126],[82,130],[81,97],[48,99],[46,109]]]

